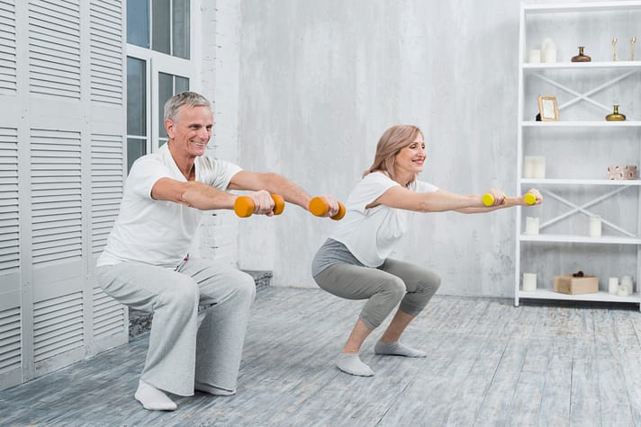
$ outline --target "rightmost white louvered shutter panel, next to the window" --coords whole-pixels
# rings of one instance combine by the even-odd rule
[[[125,168],[124,4],[121,0],[92,0],[89,5],[90,98],[100,120],[91,123],[91,262],[106,245],[122,200]],[[91,276],[91,274],[90,274]],[[93,335],[88,351],[127,342],[128,309],[92,286]]]

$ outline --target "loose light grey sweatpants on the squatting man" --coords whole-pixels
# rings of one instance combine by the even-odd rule
[[[256,285],[228,265],[190,258],[176,270],[141,262],[96,268],[104,292],[154,314],[140,379],[169,393],[194,395],[194,380],[236,389]],[[201,313],[198,306],[208,306]]]

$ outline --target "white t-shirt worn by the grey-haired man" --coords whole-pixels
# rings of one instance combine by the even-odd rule
[[[226,190],[241,169],[210,156],[194,159],[198,182]],[[186,182],[167,144],[142,156],[131,166],[125,182],[120,213],[98,258],[97,266],[118,262],[145,262],[175,268],[189,252],[202,211],[173,201],[151,199],[160,178]]]

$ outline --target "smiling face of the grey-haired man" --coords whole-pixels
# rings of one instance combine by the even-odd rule
[[[175,120],[165,120],[171,145],[182,155],[203,156],[212,138],[212,109],[205,106],[181,105]]]

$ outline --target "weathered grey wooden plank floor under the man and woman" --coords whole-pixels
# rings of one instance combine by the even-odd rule
[[[147,335],[0,392],[0,425],[641,425],[638,307],[513,307],[435,297],[404,335],[427,359],[333,364],[363,303],[318,289],[257,294],[236,396],[176,397],[173,413],[133,399]]]

